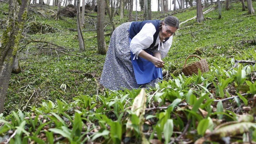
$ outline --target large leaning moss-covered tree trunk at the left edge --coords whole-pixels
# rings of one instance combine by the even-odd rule
[[[28,0],[12,0],[6,28],[0,41],[0,113],[3,112],[5,96],[11,77],[20,37],[27,17]]]

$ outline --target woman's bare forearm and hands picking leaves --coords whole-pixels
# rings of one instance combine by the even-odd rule
[[[148,54],[147,52],[145,52],[144,50],[142,50],[140,53],[139,53],[139,57],[143,58],[143,59],[146,59],[148,61],[151,61],[156,68],[163,68],[164,66],[164,61],[161,60],[161,54],[158,53],[158,52],[155,52],[153,53],[154,56]],[[155,57],[155,54],[157,57]],[[160,59],[158,59],[159,57],[159,54],[160,54]]]

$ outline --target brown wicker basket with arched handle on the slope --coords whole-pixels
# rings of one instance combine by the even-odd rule
[[[190,58],[190,57],[197,57],[200,60],[197,61],[196,63],[186,67],[186,62],[187,62],[188,58]],[[197,75],[198,68],[200,69],[200,71],[202,73],[209,71],[208,62],[206,61],[206,59],[201,59],[197,55],[190,55],[185,60],[184,68],[182,69],[182,72],[184,73],[185,76],[189,76],[189,75],[192,76],[194,73]]]

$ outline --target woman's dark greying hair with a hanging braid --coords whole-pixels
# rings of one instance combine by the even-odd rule
[[[160,39],[161,42],[163,42],[163,40],[164,40],[164,36],[162,34],[162,24],[163,24],[163,22],[166,25],[171,26],[171,27],[175,27],[177,29],[179,29],[179,25],[180,25],[179,20],[174,16],[168,16],[164,20],[161,20],[160,25],[159,25],[159,39]]]

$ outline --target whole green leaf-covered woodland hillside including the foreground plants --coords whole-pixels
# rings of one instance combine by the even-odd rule
[[[11,76],[0,115],[0,142],[256,143],[255,64],[234,68],[235,60],[256,60],[255,15],[248,16],[237,1],[231,1],[229,11],[222,3],[221,19],[216,5],[207,4],[203,11],[212,8],[204,14],[206,21],[180,25],[163,59],[167,74],[145,90],[145,115],[137,116],[131,107],[140,89],[111,91],[99,84],[105,55],[97,53],[96,31],[83,32],[87,51],[80,53],[77,32],[70,30],[76,29],[76,17],[62,15],[55,21],[51,15],[57,7],[31,5],[19,48],[22,72]],[[6,13],[8,4],[0,2],[0,35]],[[196,7],[152,12],[152,19],[168,15],[183,22],[196,16]],[[96,29],[95,16],[86,10],[83,30]],[[133,16],[135,20],[135,12]],[[138,17],[143,20],[143,12]],[[108,15],[105,20],[110,29]],[[116,26],[127,21],[126,10],[124,19],[115,16]],[[107,45],[109,39],[105,36]],[[181,73],[193,54],[207,60],[209,72]],[[189,58],[187,65],[195,61]],[[129,126],[131,138],[125,137]]]

